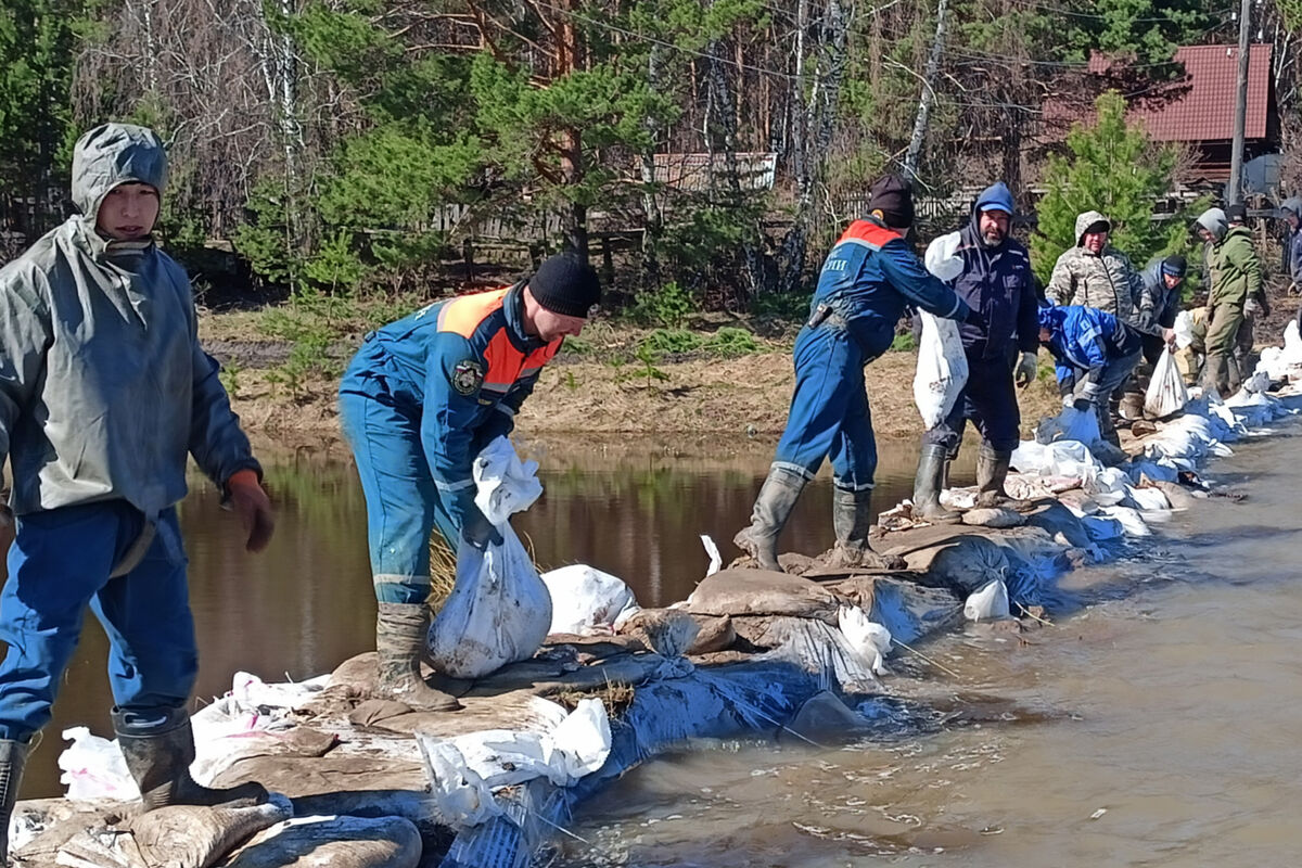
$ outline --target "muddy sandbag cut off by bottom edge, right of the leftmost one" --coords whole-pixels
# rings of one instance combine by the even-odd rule
[[[316,817],[258,834],[224,868],[415,868],[421,833],[402,817]]]

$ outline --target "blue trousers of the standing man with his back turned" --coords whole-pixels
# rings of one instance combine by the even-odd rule
[[[773,463],[812,479],[824,458],[845,491],[872,488],[878,444],[863,388],[867,359],[840,323],[807,325],[796,338],[796,392]]]

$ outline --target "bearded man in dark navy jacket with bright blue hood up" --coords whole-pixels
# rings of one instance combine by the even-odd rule
[[[1026,247],[1009,237],[1012,219],[1013,194],[999,181],[976,198],[971,220],[958,233],[957,255],[963,260],[963,271],[953,286],[979,316],[960,328],[967,383],[949,415],[923,435],[913,498],[914,513],[927,521],[958,518],[958,513],[940,505],[940,489],[948,462],[958,455],[969,419],[982,436],[976,453],[976,505],[1012,505],[1004,480],[1022,422],[1013,389],[1013,358],[1021,350],[1017,384],[1025,387],[1035,379],[1039,347],[1031,260]]]

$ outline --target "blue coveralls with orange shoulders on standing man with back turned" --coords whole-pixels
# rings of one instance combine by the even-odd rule
[[[967,314],[900,233],[855,220],[823,263],[810,319],[796,338],[796,390],[775,466],[812,479],[829,457],[837,488],[872,488],[878,446],[863,367],[891,346],[910,303],[937,316]]]

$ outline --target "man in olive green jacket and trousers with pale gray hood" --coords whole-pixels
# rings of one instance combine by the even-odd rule
[[[1207,360],[1203,363],[1203,389],[1223,398],[1241,384],[1234,345],[1243,323],[1243,306],[1262,292],[1262,263],[1253,249],[1246,226],[1230,226],[1225,212],[1208,208],[1198,217],[1198,236],[1211,245],[1207,293]]]

